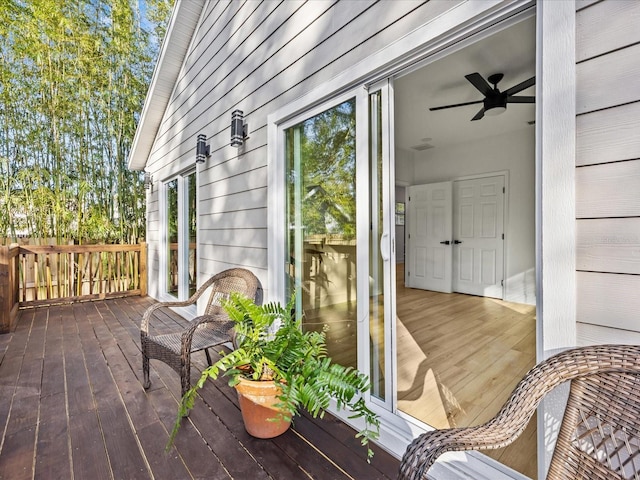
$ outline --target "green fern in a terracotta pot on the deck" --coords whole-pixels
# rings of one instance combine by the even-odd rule
[[[243,295],[232,294],[223,306],[235,322],[236,348],[221,352],[220,359],[185,393],[169,446],[182,417],[193,407],[198,389],[208,379],[225,375],[238,391],[245,428],[251,435],[271,438],[284,433],[300,409],[322,418],[333,398],[339,409],[353,412],[350,418],[363,418],[365,426],[356,437],[371,458],[369,441],[378,438],[379,420],[362,397],[369,390],[369,379],[331,361],[324,332],[303,332],[293,313],[294,297],[285,306],[275,302],[256,305]],[[263,387],[271,392],[263,394]]]

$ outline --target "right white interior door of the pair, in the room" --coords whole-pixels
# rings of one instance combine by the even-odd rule
[[[453,290],[503,298],[504,176],[453,183]]]

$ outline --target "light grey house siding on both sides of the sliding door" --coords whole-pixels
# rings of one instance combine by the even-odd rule
[[[147,204],[150,295],[161,293],[160,183],[196,168],[198,283],[246,266],[269,298],[267,116],[458,3],[465,2],[205,1],[146,163],[155,182]],[[633,317],[640,307],[640,4],[577,0],[575,7],[576,196],[566,200],[576,209],[578,343],[640,342]],[[568,8],[572,13],[573,3]],[[235,109],[249,125],[239,149],[229,146]],[[201,133],[211,156],[195,166]],[[402,180],[410,162],[396,162]],[[547,286],[555,290],[564,291]],[[545,321],[553,315],[547,308]],[[575,326],[574,315],[557,316]],[[566,337],[573,342],[575,335]],[[553,343],[549,351],[567,345]]]

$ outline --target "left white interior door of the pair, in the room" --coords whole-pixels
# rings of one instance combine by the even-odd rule
[[[452,182],[408,188],[410,287],[452,291]]]

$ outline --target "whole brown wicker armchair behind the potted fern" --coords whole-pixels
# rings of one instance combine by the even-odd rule
[[[204,315],[196,317],[189,326],[178,332],[150,335],[149,323],[154,313],[163,307],[186,307],[194,304],[211,287],[211,294]],[[182,302],[160,302],[150,306],[142,317],[140,344],[142,347],[143,386],[151,386],[149,360],[160,360],[180,375],[182,395],[191,385],[191,354],[204,350],[211,365],[209,348],[233,339],[233,322],[222,309],[220,302],[232,292],[243,293],[257,303],[262,301],[262,289],[258,279],[249,270],[232,268],[207,280],[191,298]]]

